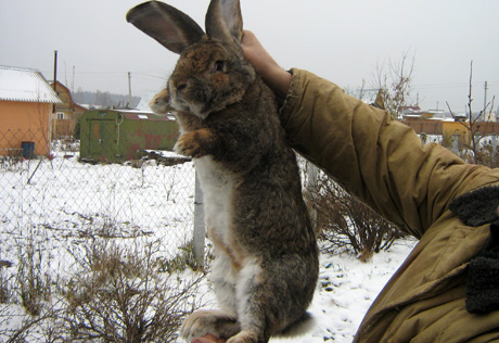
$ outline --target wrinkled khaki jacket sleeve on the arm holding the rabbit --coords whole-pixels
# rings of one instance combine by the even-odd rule
[[[281,120],[293,148],[408,233],[421,238],[455,196],[497,182],[497,173],[486,177],[490,169],[439,144],[421,145],[385,111],[311,73],[292,72]]]

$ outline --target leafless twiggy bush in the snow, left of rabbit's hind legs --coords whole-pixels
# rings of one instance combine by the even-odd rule
[[[63,289],[63,316],[75,342],[174,342],[182,318],[195,307],[202,276],[185,281],[158,272],[158,244],[123,247],[99,241],[75,253],[79,272]]]

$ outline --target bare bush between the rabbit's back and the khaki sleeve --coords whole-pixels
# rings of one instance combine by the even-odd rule
[[[401,237],[394,224],[325,176],[319,182],[315,199],[317,225],[327,252],[349,251],[366,262]]]

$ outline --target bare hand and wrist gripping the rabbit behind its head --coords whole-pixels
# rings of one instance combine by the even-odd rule
[[[255,34],[243,31],[241,40],[244,56],[261,76],[264,81],[281,98],[285,98],[291,86],[291,74],[284,71],[265,50]]]

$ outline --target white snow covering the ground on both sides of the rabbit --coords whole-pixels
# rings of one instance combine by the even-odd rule
[[[20,242],[35,236],[50,253],[49,269],[67,270],[68,247],[102,233],[95,227],[106,228],[110,220],[119,230],[104,233],[115,234],[123,244],[131,244],[133,238],[143,244],[161,240],[165,255],[178,252],[192,236],[191,162],[168,167],[149,161],[141,168],[132,168],[84,164],[77,161],[77,153],[55,153],[52,161],[37,164],[22,161],[1,165],[0,261],[15,264]],[[369,306],[414,244],[399,240],[368,263],[347,253],[322,253],[317,292],[309,308],[316,326],[303,336],[271,341],[351,342]],[[200,292],[205,307],[217,307],[208,281]],[[10,306],[12,313],[22,312],[16,305]],[[0,319],[0,329],[16,322]]]

